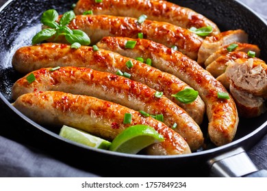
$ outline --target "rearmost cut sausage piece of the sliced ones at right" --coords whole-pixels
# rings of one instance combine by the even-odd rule
[[[221,46],[232,42],[248,42],[248,34],[243,30],[230,30],[214,36],[207,36],[199,48],[197,62],[203,66],[206,59]]]

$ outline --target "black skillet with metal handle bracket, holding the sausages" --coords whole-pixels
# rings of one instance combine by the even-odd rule
[[[244,29],[249,33],[249,42],[261,48],[261,58],[267,61],[267,23],[239,1],[176,2],[207,16],[221,31]],[[62,14],[70,10],[73,3],[76,1],[14,0],[0,9],[0,108],[1,119],[8,123],[4,127],[2,123],[0,134],[34,145],[68,164],[101,176],[236,177],[253,172],[260,176],[263,173],[251,163],[246,150],[266,134],[267,113],[255,119],[240,119],[236,138],[228,145],[183,156],[144,156],[91,149],[65,141],[58,136],[58,130],[42,127],[18,112],[10,104],[13,101],[10,99],[12,84],[21,77],[11,65],[14,51],[29,45],[33,35],[40,31],[40,15],[44,10],[53,8]],[[203,132],[205,127],[206,123],[203,124]]]

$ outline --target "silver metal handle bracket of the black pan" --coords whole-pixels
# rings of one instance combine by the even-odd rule
[[[267,171],[253,164],[242,147],[208,161],[211,177],[267,177]]]

